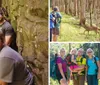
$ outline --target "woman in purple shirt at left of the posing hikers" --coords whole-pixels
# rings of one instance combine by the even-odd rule
[[[60,85],[67,85],[67,80],[66,80],[67,64],[64,59],[64,56],[65,56],[65,49],[62,48],[60,50],[60,55],[57,57],[56,60],[56,64],[57,64],[56,76]]]

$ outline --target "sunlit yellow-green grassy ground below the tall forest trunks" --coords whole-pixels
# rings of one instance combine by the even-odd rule
[[[85,32],[85,28],[79,25],[79,19],[70,15],[62,14],[62,23],[60,27],[60,35],[58,41],[70,42],[96,42],[100,41],[100,34],[94,31]]]

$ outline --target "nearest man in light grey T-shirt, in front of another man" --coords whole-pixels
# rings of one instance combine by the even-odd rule
[[[33,76],[22,56],[5,45],[4,37],[0,32],[0,85],[33,85]]]

